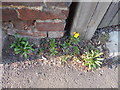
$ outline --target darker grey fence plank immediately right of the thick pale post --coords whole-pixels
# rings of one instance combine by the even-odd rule
[[[114,18],[116,12],[118,12],[118,2],[112,2],[108,11],[106,12],[105,16],[102,19],[102,22],[98,26],[98,28],[109,26],[109,23]]]

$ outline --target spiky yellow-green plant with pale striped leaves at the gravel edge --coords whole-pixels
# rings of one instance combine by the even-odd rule
[[[99,68],[103,60],[103,58],[100,58],[102,54],[103,53],[99,53],[93,50],[91,50],[91,52],[86,52],[84,55],[82,55],[83,65],[87,66],[89,70]]]

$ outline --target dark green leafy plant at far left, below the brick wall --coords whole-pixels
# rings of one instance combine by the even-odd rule
[[[27,55],[31,53],[31,51],[34,51],[32,46],[33,44],[30,45],[27,38],[18,37],[18,35],[15,34],[15,41],[10,45],[10,48],[14,49],[15,54],[22,54],[27,58]]]

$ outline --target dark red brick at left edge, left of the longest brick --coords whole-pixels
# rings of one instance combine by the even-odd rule
[[[2,9],[2,21],[17,20],[17,12],[15,9]]]

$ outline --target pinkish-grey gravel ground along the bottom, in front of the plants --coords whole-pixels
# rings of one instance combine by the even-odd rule
[[[4,65],[3,88],[118,88],[118,68],[82,72],[72,66]]]

